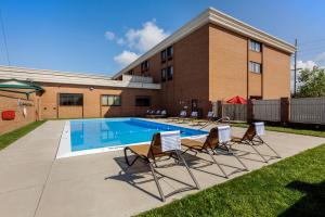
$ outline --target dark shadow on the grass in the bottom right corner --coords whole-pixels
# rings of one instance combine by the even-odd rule
[[[281,217],[325,216],[325,181],[320,183],[292,181],[286,188],[303,192],[306,195],[282,213]]]

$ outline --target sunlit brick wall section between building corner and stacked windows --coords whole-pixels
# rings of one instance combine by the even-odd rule
[[[209,99],[247,97],[247,38],[209,25]]]

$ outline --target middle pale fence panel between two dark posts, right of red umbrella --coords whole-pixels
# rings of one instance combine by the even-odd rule
[[[252,101],[252,117],[257,120],[280,122],[280,100],[255,100]]]

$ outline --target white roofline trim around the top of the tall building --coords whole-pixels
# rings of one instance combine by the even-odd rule
[[[146,53],[141,55],[139,59],[133,61],[130,65],[122,68],[120,72],[115,74],[113,76],[114,79],[116,79],[118,76],[129,72],[143,61],[150,59],[154,54],[160,52],[166,47],[179,41],[180,39],[184,38],[185,36],[190,35],[194,30],[198,29],[199,27],[204,26],[205,24],[212,23],[218,26],[224,27],[226,29],[230,29],[232,31],[238,33],[240,35],[247,36],[251,39],[261,41],[265,44],[269,44],[271,47],[277,48],[282,51],[294,53],[296,51],[296,47],[274,36],[271,36],[270,34],[266,34],[265,31],[262,31],[258,28],[255,28],[244,22],[240,22],[225,13],[222,13],[213,8],[208,8],[204,12],[202,12],[198,16],[192,18],[188,23],[186,23],[184,26],[179,28],[177,31],[174,31],[172,35],[167,37],[165,40],[159,42],[157,46],[148,50]]]

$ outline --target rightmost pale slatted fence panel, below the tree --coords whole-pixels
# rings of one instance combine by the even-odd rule
[[[325,98],[291,99],[290,122],[325,124]]]

